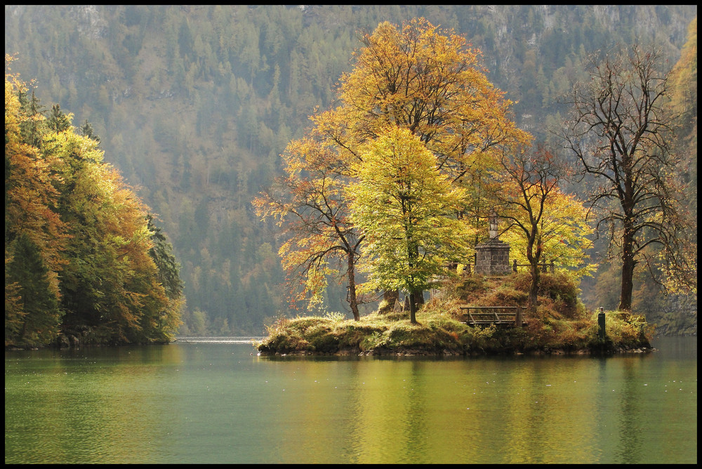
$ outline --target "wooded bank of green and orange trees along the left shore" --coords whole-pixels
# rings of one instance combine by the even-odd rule
[[[167,342],[182,284],[171,246],[98,141],[5,77],[5,343]]]

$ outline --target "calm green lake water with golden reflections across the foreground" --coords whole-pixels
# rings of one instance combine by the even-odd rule
[[[5,352],[5,463],[696,463],[697,338],[593,357]]]

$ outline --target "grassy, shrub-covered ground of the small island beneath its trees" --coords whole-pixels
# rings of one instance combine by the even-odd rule
[[[564,274],[543,273],[536,315],[524,325],[467,324],[461,306],[517,306],[527,300],[530,276],[460,276],[422,305],[417,323],[399,302],[381,302],[378,310],[358,321],[340,314],[281,318],[256,343],[261,356],[284,355],[428,355],[597,354],[649,352],[653,327],[629,312],[586,310],[577,286]]]

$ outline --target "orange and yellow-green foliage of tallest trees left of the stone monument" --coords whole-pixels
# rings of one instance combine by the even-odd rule
[[[497,148],[531,138],[508,119],[510,101],[463,37],[418,18],[383,22],[362,43],[338,107],[312,117],[283,155],[279,192],[254,201],[289,234],[280,253],[303,272],[306,295],[318,297],[319,273],[345,253],[352,310],[359,248],[371,290],[423,289],[446,259],[467,258],[469,230],[457,215],[477,205],[458,187],[479,180]],[[341,194],[354,201],[351,220]]]

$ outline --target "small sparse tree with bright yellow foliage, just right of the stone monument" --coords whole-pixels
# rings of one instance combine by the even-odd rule
[[[592,230],[585,222],[583,204],[561,190],[571,171],[543,144],[515,148],[501,157],[498,168],[492,175],[499,186],[494,201],[501,218],[510,223],[503,240],[510,243],[515,258],[525,257],[529,263],[533,314],[547,253],[550,261],[562,267],[580,267],[581,275],[591,271],[592,265],[583,264]]]

